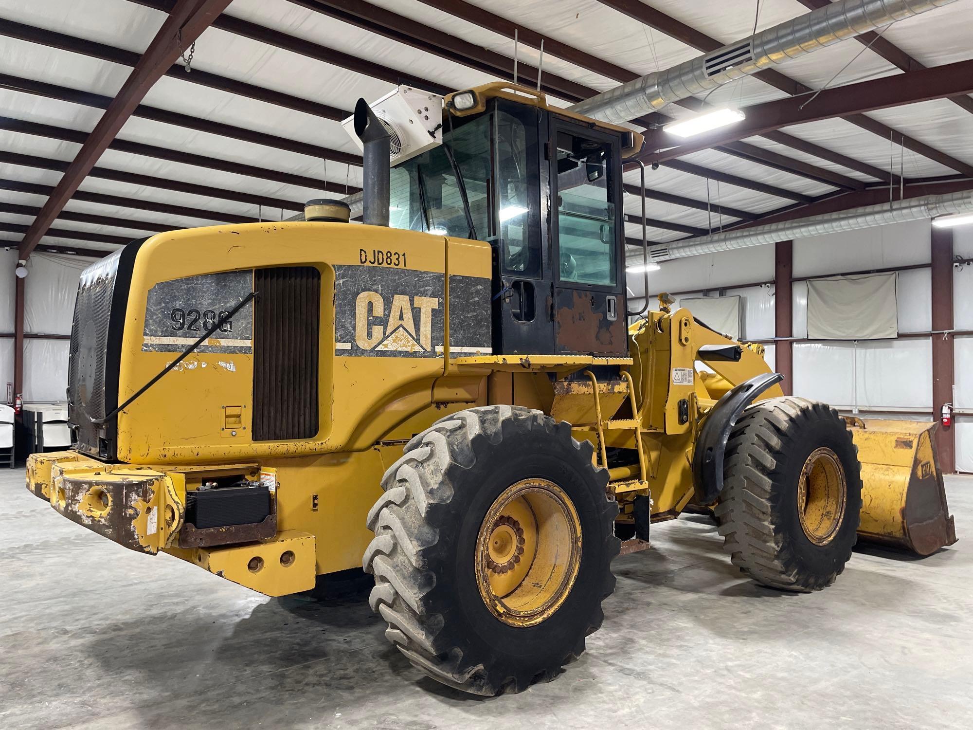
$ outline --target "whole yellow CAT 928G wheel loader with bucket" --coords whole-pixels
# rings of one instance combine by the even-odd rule
[[[502,84],[400,88],[347,124],[364,225],[311,201],[84,272],[76,445],[30,456],[31,492],[269,596],[364,567],[386,637],[485,695],[580,655],[612,560],[691,502],[789,591],[834,581],[856,530],[955,541],[928,424],[848,424],[762,347],[632,311],[637,133]]]

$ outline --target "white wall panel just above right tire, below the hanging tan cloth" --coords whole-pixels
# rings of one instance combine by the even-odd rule
[[[794,395],[854,404],[854,344],[794,343]]]

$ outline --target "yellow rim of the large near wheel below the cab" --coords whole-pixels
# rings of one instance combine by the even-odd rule
[[[581,522],[571,499],[546,479],[508,487],[477,535],[476,573],[490,612],[510,626],[535,626],[571,592],[581,567]]]

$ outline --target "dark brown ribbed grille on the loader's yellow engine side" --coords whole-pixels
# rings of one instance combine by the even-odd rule
[[[258,269],[253,321],[253,439],[311,438],[318,429],[321,274]]]

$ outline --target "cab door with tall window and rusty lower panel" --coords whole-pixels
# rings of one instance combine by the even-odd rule
[[[556,351],[626,355],[619,139],[552,115],[547,157]]]

